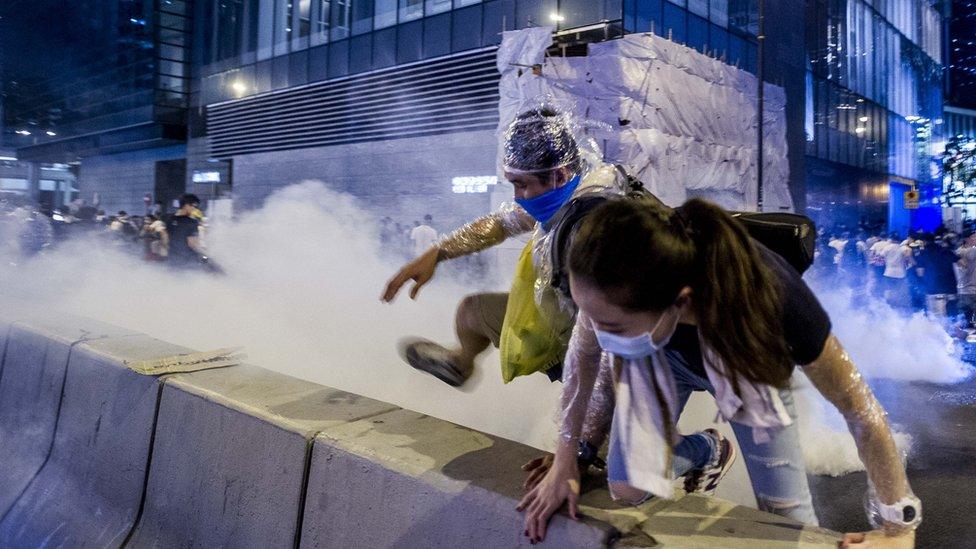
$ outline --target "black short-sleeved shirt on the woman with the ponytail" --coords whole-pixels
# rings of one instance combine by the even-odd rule
[[[830,316],[796,269],[761,243],[755,244],[759,247],[766,266],[773,271],[781,284],[783,335],[789,345],[793,362],[800,365],[810,364],[820,356],[827,344],[831,329]],[[728,311],[727,314],[738,314],[738,311]],[[678,324],[678,329],[664,349],[668,354],[680,355],[680,359],[694,374],[708,377],[696,326]]]

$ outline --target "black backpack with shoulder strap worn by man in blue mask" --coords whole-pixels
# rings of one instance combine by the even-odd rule
[[[625,196],[664,205],[656,196],[644,188],[644,184],[640,180],[628,174],[621,166],[618,165],[616,168],[626,180],[627,192]],[[570,237],[576,232],[576,227],[583,218],[609,198],[609,195],[596,193],[574,198],[556,214],[552,221],[550,228],[553,231],[550,242],[552,280],[550,280],[550,284],[563,295],[570,295],[569,267],[566,264]],[[680,211],[680,208],[678,210]],[[803,274],[813,264],[813,253],[817,244],[817,229],[809,217],[785,212],[729,213],[745,226],[746,230],[749,231],[749,236],[776,252],[798,273]]]

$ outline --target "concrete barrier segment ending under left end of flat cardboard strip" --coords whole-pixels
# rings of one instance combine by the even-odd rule
[[[142,500],[159,394],[158,379],[123,361],[186,351],[143,335],[74,346],[51,455],[0,522],[0,547],[122,544]]]

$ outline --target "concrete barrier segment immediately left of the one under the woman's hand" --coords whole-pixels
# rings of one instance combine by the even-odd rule
[[[255,366],[170,377],[135,547],[291,547],[311,441],[396,409]]]

